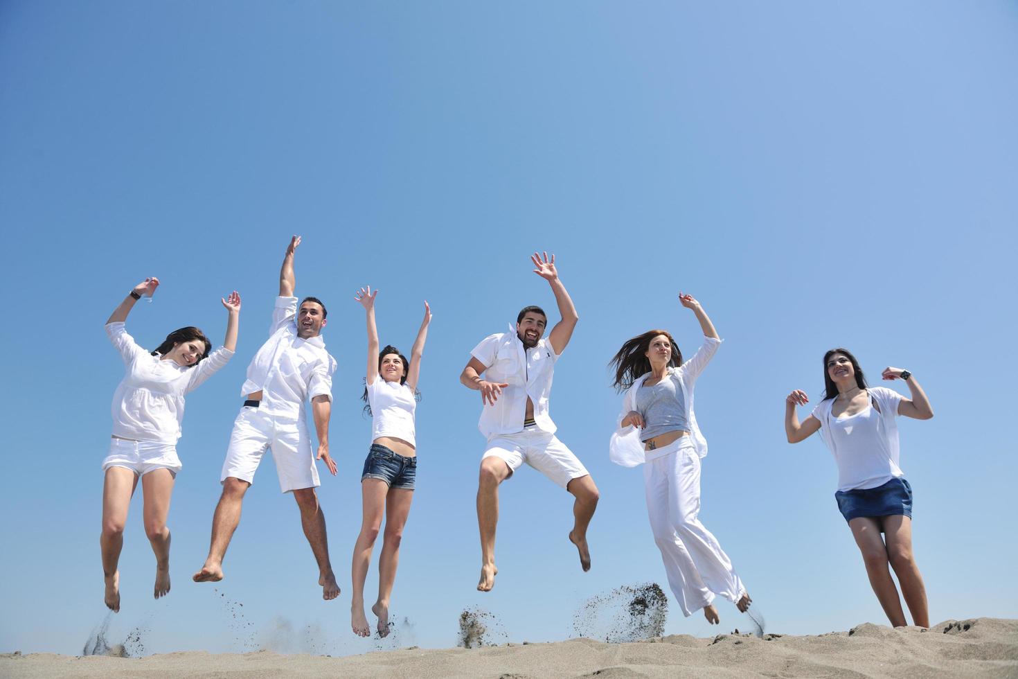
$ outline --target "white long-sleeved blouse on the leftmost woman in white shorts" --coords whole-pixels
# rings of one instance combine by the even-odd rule
[[[123,323],[107,324],[106,334],[127,366],[113,393],[113,435],[176,444],[184,418],[184,395],[225,365],[233,351],[221,346],[197,364],[184,366],[139,347]]]

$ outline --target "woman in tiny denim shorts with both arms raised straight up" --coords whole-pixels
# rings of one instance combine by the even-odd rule
[[[363,518],[360,534],[353,547],[350,578],[353,595],[350,602],[350,626],[358,636],[370,636],[364,615],[364,579],[371,565],[372,549],[382,529],[385,533],[379,556],[379,597],[372,606],[378,617],[379,636],[389,634],[389,600],[396,581],[399,543],[410,513],[417,472],[414,414],[420,357],[432,321],[431,307],[425,302],[425,319],[410,349],[410,359],[399,349],[387,345],[379,351],[375,325],[375,297],[371,287],[357,291],[355,299],[364,307],[367,320],[367,371],[364,376],[364,409],[372,415],[372,447],[360,475]],[[386,516],[387,515],[387,516]]]

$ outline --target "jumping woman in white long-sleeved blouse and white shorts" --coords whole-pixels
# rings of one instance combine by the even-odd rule
[[[222,299],[227,310],[226,339],[210,353],[212,343],[194,327],[175,330],[152,352],[127,334],[124,321],[143,295],[152,297],[158,278],[134,286],[106,321],[106,333],[126,366],[113,395],[113,435],[103,460],[103,531],[100,548],[106,582],[106,606],[120,610],[117,564],[123,547],[127,508],[142,480],[145,530],[156,554],[155,597],[170,590],[170,509],[173,482],[180,470],[176,443],[184,415],[184,396],[226,364],[237,344],[240,295]]]

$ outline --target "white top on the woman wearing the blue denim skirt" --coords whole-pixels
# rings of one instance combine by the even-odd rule
[[[838,490],[876,488],[904,475],[898,466],[898,404],[903,396],[886,387],[869,387],[867,408],[849,417],[831,414],[834,399],[821,401],[812,415],[838,464]],[[873,407],[873,401],[880,412]]]

